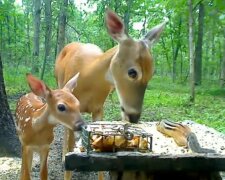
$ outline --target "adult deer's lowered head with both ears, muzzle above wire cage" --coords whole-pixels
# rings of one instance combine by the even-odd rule
[[[142,39],[134,40],[125,33],[121,19],[112,11],[106,13],[109,35],[118,42],[108,74],[115,85],[124,120],[137,123],[148,81],[153,75],[150,48],[158,40],[165,22],[153,27]]]

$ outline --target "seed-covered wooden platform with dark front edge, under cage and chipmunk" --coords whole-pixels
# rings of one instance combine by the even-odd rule
[[[192,121],[182,122],[196,134],[202,147],[216,151],[212,154],[192,153],[178,147],[172,138],[159,133],[156,122],[140,123],[153,134],[153,152],[97,153],[71,152],[65,157],[65,169],[76,171],[225,171],[225,135]]]

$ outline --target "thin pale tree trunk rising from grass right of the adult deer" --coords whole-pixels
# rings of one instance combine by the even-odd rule
[[[195,101],[194,79],[194,30],[193,30],[193,2],[188,0],[189,7],[189,57],[190,57],[190,102]]]

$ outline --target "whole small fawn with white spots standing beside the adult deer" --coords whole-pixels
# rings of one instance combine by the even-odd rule
[[[57,124],[63,124],[71,131],[80,130],[84,124],[80,116],[80,103],[71,94],[78,75],[57,90],[51,90],[44,82],[31,74],[27,75],[32,93],[22,96],[16,108],[16,129],[22,144],[21,180],[30,179],[34,151],[40,154],[40,178],[47,180],[49,146]]]

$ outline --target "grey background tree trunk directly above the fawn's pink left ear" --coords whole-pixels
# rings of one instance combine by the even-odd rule
[[[41,0],[34,0],[34,49],[32,72],[39,72],[39,41],[40,41],[40,21],[41,21]]]

